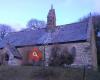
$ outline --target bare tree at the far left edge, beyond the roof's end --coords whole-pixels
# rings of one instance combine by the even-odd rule
[[[0,39],[2,40],[7,33],[14,31],[9,25],[0,24]]]

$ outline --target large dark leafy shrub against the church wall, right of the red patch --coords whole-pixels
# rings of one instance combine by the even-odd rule
[[[51,51],[49,59],[50,66],[70,65],[74,61],[74,56],[68,52],[67,49],[61,50],[59,46],[54,46]]]

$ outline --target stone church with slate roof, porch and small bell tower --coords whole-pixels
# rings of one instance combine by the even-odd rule
[[[71,65],[91,66],[97,69],[92,17],[88,21],[56,25],[53,7],[48,12],[45,28],[12,32],[6,35],[0,42],[0,63],[8,65],[31,63],[28,55],[33,48],[38,48],[43,54],[45,65],[48,65],[51,48],[55,45],[61,50],[67,49],[69,53],[76,55]]]

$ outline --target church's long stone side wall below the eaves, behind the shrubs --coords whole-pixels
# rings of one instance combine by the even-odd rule
[[[30,46],[18,48],[20,54],[23,57],[23,64],[29,63],[28,54],[34,47],[38,47],[43,54],[43,60],[45,57],[45,64],[48,66],[49,57],[51,55],[52,47],[55,45],[45,45],[45,46]],[[71,54],[75,55],[75,60],[71,65],[92,65],[92,54],[90,49],[90,44],[88,42],[82,43],[67,43],[67,44],[57,44],[61,50],[67,49]],[[73,48],[75,49],[73,51]],[[44,54],[45,52],[45,54]]]

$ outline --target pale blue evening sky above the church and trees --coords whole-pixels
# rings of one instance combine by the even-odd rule
[[[0,24],[20,30],[30,19],[47,20],[51,4],[57,25],[78,21],[90,12],[100,13],[99,0],[0,0]]]

